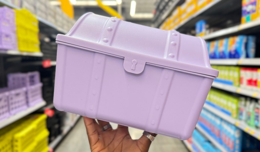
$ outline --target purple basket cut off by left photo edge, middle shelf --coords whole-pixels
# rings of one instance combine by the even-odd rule
[[[0,89],[0,121],[9,116],[8,97],[9,91],[6,88]]]

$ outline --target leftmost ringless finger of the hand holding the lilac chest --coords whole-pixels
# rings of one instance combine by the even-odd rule
[[[88,140],[90,143],[90,147],[95,145],[98,141],[98,131],[96,129],[95,123],[92,118],[83,117],[84,123],[86,126],[87,134],[88,134]]]

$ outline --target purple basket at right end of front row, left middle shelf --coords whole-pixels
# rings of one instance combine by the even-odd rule
[[[42,83],[27,87],[27,103],[29,107],[42,101]]]

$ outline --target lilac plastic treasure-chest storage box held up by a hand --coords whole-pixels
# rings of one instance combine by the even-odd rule
[[[58,35],[54,106],[188,139],[218,70],[202,38],[83,15]]]

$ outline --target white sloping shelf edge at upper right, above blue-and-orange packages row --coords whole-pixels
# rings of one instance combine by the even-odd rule
[[[225,28],[222,30],[218,30],[216,32],[210,33],[206,36],[202,36],[203,39],[205,40],[209,40],[209,39],[214,39],[214,38],[218,38],[218,37],[222,37],[222,36],[227,36],[230,34],[240,34],[240,32],[253,32],[252,28],[257,28],[254,30],[259,30],[260,29],[260,20],[255,20],[255,21],[251,21],[245,24],[240,24],[240,25],[236,25],[236,26],[232,26],[229,28]]]

